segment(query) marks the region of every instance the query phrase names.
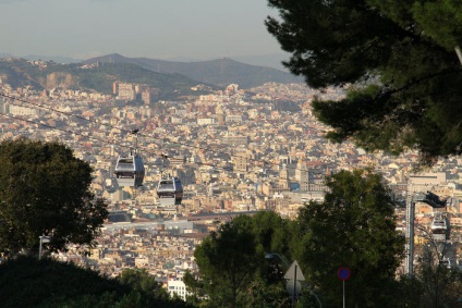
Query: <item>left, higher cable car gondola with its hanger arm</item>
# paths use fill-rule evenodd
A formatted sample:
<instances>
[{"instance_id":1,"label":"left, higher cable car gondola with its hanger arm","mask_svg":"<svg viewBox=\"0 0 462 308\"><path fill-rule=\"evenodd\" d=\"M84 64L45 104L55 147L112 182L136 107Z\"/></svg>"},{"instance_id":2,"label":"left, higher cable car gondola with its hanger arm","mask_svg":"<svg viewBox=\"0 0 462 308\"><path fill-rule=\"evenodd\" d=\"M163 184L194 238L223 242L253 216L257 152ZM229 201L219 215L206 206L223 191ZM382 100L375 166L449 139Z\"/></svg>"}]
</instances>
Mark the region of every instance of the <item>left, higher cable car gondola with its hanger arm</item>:
<instances>
[{"instance_id":1,"label":"left, higher cable car gondola with its hanger arm","mask_svg":"<svg viewBox=\"0 0 462 308\"><path fill-rule=\"evenodd\" d=\"M143 186L145 169L142 157L136 152L137 133L138 130L132 131L132 134L136 136L134 151L126 157L119 156L117 160L114 174L119 186Z\"/></svg>"}]
</instances>

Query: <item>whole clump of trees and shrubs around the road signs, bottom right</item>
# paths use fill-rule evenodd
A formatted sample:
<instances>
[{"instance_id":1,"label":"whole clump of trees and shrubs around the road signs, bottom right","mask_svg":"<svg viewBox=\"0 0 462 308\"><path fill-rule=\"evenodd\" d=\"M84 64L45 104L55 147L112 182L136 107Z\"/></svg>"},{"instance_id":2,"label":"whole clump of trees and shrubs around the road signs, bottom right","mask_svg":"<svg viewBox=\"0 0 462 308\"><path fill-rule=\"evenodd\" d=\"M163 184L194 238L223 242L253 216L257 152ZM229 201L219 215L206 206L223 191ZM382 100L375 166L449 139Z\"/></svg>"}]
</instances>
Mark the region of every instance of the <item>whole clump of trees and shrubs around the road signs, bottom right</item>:
<instances>
[{"instance_id":1,"label":"whole clump of trees and shrubs around the road signs, bottom right","mask_svg":"<svg viewBox=\"0 0 462 308\"><path fill-rule=\"evenodd\" d=\"M396 230L394 208L380 175L341 171L328 177L327 186L325 201L305 205L295 221L262 211L238 217L205 238L195 252L199 273L187 272L183 280L193 293L190 303L290 307L283 276L296 259L306 279L296 307L319 307L317 298L323 307L341 307L341 267L351 270L346 307L437 307L430 306L435 292L439 304L457 307L460 272L441 269L439 291L428 271L415 279L397 276L404 236Z\"/></svg>"}]
</instances>

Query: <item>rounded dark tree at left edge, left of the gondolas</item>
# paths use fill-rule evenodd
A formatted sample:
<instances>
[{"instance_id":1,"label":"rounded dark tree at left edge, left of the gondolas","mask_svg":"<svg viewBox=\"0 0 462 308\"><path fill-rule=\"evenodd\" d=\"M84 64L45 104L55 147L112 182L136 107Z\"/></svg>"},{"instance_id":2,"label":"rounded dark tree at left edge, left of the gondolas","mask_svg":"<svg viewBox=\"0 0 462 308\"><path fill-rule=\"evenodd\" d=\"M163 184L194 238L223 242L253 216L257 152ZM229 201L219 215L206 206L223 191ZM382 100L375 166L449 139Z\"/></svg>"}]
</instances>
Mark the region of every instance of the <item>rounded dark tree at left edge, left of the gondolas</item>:
<instances>
[{"instance_id":1,"label":"rounded dark tree at left edge, left of the gondolas","mask_svg":"<svg viewBox=\"0 0 462 308\"><path fill-rule=\"evenodd\" d=\"M89 190L90 165L57 143L26 138L0 143L0 252L36 251L40 235L50 250L93 245L108 215Z\"/></svg>"}]
</instances>

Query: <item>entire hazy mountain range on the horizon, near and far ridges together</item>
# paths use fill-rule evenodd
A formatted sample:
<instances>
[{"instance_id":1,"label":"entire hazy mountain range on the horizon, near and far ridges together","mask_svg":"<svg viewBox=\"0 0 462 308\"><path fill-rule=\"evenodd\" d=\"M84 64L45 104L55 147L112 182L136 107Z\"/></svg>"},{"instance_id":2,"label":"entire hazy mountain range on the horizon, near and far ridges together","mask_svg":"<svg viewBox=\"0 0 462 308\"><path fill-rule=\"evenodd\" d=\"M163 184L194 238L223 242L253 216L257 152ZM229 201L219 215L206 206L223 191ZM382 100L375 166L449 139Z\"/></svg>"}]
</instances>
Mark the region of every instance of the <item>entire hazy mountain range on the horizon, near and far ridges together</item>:
<instances>
[{"instance_id":1,"label":"entire hazy mountain range on the horizon, near and far ridges together","mask_svg":"<svg viewBox=\"0 0 462 308\"><path fill-rule=\"evenodd\" d=\"M203 89L219 89L230 84L239 84L245 89L268 82L303 83L301 77L287 72L244 64L228 58L177 62L126 58L114 53L69 64L49 61L46 58L41 60L48 61L47 65L40 66L24 59L0 53L0 78L13 87L32 85L36 89L61 87L93 89L100 93L111 93L112 83L115 81L139 83L158 88L161 94L159 98L193 94L192 87L198 84L205 85Z\"/></svg>"}]
</instances>

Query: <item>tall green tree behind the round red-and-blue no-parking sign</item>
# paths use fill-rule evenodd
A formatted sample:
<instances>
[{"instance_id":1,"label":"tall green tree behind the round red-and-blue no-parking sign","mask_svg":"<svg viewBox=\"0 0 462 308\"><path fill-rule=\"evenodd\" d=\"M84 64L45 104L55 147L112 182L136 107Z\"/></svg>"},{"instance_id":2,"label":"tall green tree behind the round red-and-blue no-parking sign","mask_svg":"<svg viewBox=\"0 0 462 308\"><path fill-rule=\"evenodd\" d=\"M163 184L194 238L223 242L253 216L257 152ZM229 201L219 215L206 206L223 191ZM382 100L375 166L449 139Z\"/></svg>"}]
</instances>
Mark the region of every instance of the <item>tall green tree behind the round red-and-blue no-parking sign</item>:
<instances>
[{"instance_id":1,"label":"tall green tree behind the round red-and-blue no-parking sign","mask_svg":"<svg viewBox=\"0 0 462 308\"><path fill-rule=\"evenodd\" d=\"M342 284L336 276L349 267L346 306L394 307L386 289L394 283L404 250L396 231L394 210L380 175L340 171L326 180L324 202L309 201L300 211L297 260L305 278L327 306L341 305ZM387 300L386 300L387 299Z\"/></svg>"}]
</instances>

